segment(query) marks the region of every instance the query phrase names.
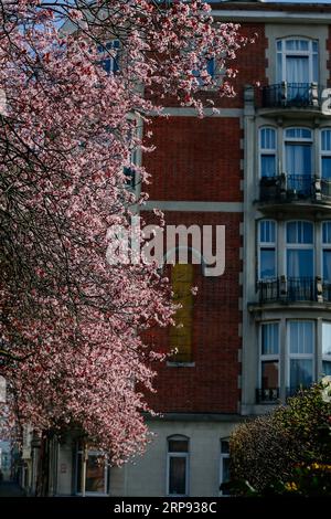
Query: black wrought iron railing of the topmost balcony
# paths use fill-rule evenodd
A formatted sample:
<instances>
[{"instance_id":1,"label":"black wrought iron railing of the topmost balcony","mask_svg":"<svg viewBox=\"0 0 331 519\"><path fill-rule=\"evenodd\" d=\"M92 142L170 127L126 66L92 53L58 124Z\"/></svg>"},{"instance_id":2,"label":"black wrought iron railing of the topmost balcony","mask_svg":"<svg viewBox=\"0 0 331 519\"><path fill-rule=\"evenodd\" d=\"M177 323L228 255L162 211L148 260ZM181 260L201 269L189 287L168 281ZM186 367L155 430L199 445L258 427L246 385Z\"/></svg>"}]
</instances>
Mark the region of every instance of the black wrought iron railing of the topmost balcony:
<instances>
[{"instance_id":1,"label":"black wrought iron railing of the topmost balcony","mask_svg":"<svg viewBox=\"0 0 331 519\"><path fill-rule=\"evenodd\" d=\"M264 107L316 107L320 106L321 88L317 83L288 83L263 87Z\"/></svg>"}]
</instances>

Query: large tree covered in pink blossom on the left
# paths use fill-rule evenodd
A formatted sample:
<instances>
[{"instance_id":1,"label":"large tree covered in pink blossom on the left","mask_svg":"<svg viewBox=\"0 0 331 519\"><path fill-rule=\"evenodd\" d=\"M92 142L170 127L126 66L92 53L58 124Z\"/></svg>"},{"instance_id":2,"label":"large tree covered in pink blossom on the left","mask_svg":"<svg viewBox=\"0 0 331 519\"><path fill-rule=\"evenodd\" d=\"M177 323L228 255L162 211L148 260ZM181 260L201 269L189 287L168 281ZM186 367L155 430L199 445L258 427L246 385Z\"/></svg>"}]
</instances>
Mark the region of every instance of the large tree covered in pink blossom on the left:
<instances>
[{"instance_id":1,"label":"large tree covered in pink blossom on the left","mask_svg":"<svg viewBox=\"0 0 331 519\"><path fill-rule=\"evenodd\" d=\"M173 311L156 266L106 261L107 230L127 226L137 202L125 167L137 148L150 150L137 130L167 96L202 114L201 89L233 94L229 64L246 41L200 1L0 4L8 403L38 431L82 428L119 463L147 441L150 410L137 385L152 390L151 362L161 359L141 333L168 326ZM215 56L221 85L206 70Z\"/></svg>"}]
</instances>

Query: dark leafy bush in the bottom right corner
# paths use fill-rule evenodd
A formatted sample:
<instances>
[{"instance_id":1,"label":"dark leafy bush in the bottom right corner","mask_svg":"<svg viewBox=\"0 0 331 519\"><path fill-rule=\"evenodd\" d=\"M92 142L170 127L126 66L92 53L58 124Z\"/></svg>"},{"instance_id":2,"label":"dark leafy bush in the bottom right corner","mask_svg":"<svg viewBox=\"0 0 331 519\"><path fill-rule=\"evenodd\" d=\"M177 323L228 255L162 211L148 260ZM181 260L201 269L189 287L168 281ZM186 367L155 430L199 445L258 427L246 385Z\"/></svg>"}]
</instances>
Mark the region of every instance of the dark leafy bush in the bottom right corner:
<instances>
[{"instance_id":1,"label":"dark leafy bush in the bottom right corner","mask_svg":"<svg viewBox=\"0 0 331 519\"><path fill-rule=\"evenodd\" d=\"M236 494L331 495L331 377L231 437Z\"/></svg>"}]
</instances>

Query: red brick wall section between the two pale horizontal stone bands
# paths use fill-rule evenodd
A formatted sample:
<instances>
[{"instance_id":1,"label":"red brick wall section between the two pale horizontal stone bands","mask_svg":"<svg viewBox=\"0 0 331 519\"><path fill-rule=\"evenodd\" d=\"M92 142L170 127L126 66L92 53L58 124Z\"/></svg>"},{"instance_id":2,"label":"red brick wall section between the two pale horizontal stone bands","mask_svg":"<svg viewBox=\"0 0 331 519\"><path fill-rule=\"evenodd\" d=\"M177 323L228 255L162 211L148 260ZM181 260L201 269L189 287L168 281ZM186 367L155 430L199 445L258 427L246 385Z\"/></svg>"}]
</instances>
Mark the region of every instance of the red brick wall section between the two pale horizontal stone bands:
<instances>
[{"instance_id":1,"label":"red brick wall section between the two pale horizontal stone bands","mask_svg":"<svg viewBox=\"0 0 331 519\"><path fill-rule=\"evenodd\" d=\"M151 200L242 201L238 118L157 118L152 131L157 149L143 157Z\"/></svg>"}]
</instances>

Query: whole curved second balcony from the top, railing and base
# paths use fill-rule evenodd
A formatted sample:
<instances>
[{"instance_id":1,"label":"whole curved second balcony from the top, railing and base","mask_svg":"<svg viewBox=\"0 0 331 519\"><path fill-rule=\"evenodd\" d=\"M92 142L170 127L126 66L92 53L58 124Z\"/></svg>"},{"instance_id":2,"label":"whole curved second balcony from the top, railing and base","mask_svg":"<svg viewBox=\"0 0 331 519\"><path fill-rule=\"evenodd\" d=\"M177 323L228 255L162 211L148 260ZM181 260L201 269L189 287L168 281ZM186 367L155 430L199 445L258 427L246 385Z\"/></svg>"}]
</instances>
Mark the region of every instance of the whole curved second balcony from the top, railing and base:
<instances>
[{"instance_id":1,"label":"whole curved second balcony from the top, railing and base","mask_svg":"<svg viewBox=\"0 0 331 519\"><path fill-rule=\"evenodd\" d=\"M288 204L296 211L296 205L308 209L331 209L331 179L321 179L311 174L287 174L263 177L259 182L259 203L264 209L275 209ZM278 208L279 209L279 208Z\"/></svg>"}]
</instances>

